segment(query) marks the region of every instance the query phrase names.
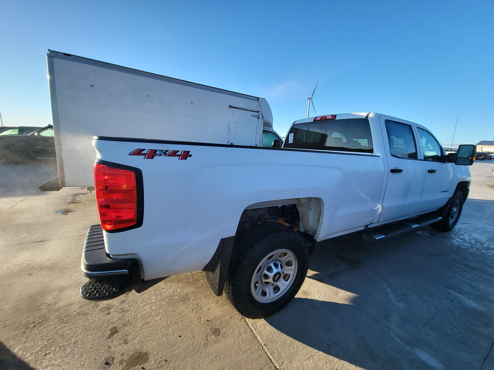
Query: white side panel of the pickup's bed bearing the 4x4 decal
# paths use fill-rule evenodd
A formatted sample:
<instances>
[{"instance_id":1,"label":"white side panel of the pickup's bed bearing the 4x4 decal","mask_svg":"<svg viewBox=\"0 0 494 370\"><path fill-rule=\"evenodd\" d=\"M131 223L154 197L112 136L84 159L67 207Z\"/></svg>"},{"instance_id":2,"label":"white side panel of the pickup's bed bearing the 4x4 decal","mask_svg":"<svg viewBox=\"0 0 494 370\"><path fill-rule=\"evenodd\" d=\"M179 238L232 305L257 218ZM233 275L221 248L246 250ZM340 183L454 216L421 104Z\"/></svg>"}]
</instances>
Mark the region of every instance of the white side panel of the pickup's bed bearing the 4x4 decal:
<instances>
[{"instance_id":1,"label":"white side panel of the pickup's bed bearing the 4x4 decal","mask_svg":"<svg viewBox=\"0 0 494 370\"><path fill-rule=\"evenodd\" d=\"M112 257L140 260L146 280L202 269L256 205L321 199L320 217L334 222L320 222L316 240L363 228L377 221L386 181L383 158L367 153L101 136L92 144L98 161L142 172L142 226L105 233L105 244Z\"/></svg>"}]
</instances>

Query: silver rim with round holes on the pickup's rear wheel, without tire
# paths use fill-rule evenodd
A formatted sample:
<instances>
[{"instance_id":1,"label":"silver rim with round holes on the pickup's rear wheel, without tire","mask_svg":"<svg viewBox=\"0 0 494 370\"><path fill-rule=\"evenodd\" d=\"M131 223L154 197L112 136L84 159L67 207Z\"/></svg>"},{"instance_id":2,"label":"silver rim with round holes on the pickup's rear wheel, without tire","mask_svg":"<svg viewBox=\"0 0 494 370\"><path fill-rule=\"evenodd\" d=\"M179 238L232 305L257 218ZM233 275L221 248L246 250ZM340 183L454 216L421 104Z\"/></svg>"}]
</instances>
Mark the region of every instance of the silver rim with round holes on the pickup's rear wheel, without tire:
<instances>
[{"instance_id":1,"label":"silver rim with round holes on the pickup's rear wheel, without tire","mask_svg":"<svg viewBox=\"0 0 494 370\"><path fill-rule=\"evenodd\" d=\"M261 303L270 303L283 296L297 274L297 258L288 249L278 249L262 259L250 282L250 292Z\"/></svg>"}]
</instances>

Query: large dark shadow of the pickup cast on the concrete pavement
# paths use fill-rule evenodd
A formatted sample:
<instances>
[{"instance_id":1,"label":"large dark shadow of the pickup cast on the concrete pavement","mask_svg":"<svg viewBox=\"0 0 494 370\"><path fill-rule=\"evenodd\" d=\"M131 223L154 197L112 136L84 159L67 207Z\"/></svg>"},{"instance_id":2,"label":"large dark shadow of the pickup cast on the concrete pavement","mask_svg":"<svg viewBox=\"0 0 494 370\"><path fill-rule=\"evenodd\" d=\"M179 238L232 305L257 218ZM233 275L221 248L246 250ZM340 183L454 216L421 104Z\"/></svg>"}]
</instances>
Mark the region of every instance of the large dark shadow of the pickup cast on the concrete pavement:
<instances>
[{"instance_id":1,"label":"large dark shadow of the pickup cast on the concrete pavement","mask_svg":"<svg viewBox=\"0 0 494 370\"><path fill-rule=\"evenodd\" d=\"M266 322L364 369L480 369L493 341L493 276L430 253L448 244L427 229L379 244L358 233L318 243L301 290ZM296 341L283 351L322 363Z\"/></svg>"}]
</instances>

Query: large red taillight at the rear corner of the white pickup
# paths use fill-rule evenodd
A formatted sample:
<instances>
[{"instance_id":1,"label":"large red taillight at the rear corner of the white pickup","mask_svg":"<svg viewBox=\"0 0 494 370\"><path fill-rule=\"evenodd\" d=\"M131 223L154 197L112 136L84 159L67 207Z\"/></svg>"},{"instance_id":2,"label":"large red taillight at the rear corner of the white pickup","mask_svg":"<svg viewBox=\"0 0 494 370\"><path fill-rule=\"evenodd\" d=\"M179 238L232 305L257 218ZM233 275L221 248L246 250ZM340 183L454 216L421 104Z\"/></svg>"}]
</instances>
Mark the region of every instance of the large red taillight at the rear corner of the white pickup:
<instances>
[{"instance_id":1,"label":"large red taillight at the rear corner of the white pickup","mask_svg":"<svg viewBox=\"0 0 494 370\"><path fill-rule=\"evenodd\" d=\"M94 191L104 230L137 222L137 187L133 171L94 163Z\"/></svg>"}]
</instances>

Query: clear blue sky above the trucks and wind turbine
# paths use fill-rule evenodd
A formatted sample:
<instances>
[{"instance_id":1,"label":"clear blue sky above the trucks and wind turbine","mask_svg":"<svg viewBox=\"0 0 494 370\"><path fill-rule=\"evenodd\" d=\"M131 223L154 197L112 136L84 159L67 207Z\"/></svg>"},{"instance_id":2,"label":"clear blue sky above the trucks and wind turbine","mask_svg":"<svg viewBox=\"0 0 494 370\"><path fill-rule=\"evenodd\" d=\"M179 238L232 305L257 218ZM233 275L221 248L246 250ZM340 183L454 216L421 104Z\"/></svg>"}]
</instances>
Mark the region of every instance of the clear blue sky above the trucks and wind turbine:
<instances>
[{"instance_id":1,"label":"clear blue sky above the trucks and wind turbine","mask_svg":"<svg viewBox=\"0 0 494 370\"><path fill-rule=\"evenodd\" d=\"M284 135L316 112L378 111L445 146L494 140L493 1L4 1L4 125L51 122L48 48L261 96ZM311 115L315 115L311 109Z\"/></svg>"}]
</instances>

